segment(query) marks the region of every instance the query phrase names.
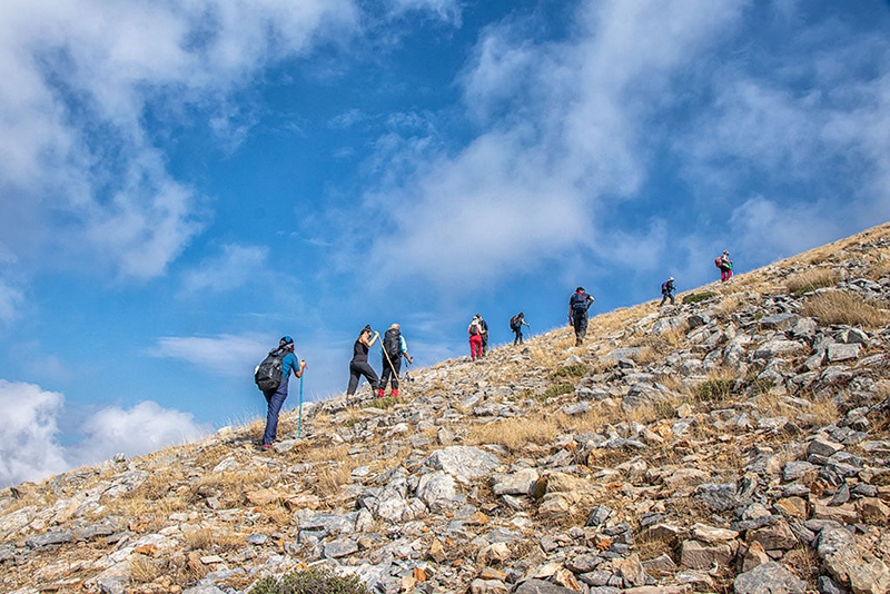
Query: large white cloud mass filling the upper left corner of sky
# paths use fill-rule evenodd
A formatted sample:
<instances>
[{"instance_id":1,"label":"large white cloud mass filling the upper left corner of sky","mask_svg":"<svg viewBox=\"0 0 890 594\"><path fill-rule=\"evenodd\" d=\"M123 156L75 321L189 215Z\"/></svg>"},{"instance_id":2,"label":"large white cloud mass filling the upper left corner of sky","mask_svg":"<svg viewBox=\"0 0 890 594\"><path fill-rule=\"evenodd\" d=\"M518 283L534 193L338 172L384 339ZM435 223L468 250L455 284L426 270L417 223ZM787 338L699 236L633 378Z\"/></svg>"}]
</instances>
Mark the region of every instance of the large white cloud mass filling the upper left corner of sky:
<instances>
[{"instance_id":1,"label":"large white cloud mass filling the upper left corner of sky","mask_svg":"<svg viewBox=\"0 0 890 594\"><path fill-rule=\"evenodd\" d=\"M154 145L147 110L167 126L197 106L237 143L251 120L233 111L233 90L357 27L349 0L3 8L0 235L21 258L98 259L136 278L162 274L206 219Z\"/></svg>"}]
</instances>

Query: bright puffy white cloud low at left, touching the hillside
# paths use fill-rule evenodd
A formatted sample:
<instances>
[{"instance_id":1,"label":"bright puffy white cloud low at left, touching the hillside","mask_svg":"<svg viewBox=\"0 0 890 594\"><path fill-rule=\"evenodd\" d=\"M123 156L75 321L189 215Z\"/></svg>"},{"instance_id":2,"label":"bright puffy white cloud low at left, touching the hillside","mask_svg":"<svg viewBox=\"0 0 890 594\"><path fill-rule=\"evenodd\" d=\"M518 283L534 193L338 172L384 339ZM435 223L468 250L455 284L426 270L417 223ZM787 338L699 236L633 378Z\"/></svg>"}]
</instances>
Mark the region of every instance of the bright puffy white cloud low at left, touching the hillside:
<instances>
[{"instance_id":1,"label":"bright puffy white cloud low at left, touching the hillside","mask_svg":"<svg viewBox=\"0 0 890 594\"><path fill-rule=\"evenodd\" d=\"M115 406L98 410L80 427L80 442L62 445L58 419L63 415L61 394L0 379L0 486L41 481L119 452L127 456L147 454L198 439L210 430L195 423L189 413L142 402L130 409Z\"/></svg>"}]
</instances>

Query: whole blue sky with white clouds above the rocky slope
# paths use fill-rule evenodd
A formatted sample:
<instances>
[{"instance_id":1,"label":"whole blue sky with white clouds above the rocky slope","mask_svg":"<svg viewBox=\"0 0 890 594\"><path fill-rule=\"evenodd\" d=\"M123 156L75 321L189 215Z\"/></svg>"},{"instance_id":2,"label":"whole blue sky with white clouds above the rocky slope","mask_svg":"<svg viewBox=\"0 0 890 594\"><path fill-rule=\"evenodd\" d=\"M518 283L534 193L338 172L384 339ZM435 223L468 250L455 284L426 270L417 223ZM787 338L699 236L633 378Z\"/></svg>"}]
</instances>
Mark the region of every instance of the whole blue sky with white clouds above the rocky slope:
<instances>
[{"instance_id":1,"label":"whole blue sky with white clouds above the rocky slope","mask_svg":"<svg viewBox=\"0 0 890 594\"><path fill-rule=\"evenodd\" d=\"M428 365L890 214L887 2L3 12L0 484L257 417L284 334L318 399L365 324Z\"/></svg>"}]
</instances>

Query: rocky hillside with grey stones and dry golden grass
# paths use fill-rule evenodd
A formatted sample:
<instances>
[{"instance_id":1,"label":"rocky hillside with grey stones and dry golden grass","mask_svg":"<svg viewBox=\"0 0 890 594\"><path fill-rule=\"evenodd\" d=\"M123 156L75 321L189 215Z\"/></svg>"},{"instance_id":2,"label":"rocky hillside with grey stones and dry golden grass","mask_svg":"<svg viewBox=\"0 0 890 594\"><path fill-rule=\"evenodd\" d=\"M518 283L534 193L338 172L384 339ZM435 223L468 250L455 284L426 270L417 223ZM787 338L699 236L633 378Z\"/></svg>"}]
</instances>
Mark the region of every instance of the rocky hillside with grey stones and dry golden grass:
<instances>
[{"instance_id":1,"label":"rocky hillside with grey stones and dry golden grass","mask_svg":"<svg viewBox=\"0 0 890 594\"><path fill-rule=\"evenodd\" d=\"M680 297L7 489L0 590L888 592L890 225Z\"/></svg>"}]
</instances>

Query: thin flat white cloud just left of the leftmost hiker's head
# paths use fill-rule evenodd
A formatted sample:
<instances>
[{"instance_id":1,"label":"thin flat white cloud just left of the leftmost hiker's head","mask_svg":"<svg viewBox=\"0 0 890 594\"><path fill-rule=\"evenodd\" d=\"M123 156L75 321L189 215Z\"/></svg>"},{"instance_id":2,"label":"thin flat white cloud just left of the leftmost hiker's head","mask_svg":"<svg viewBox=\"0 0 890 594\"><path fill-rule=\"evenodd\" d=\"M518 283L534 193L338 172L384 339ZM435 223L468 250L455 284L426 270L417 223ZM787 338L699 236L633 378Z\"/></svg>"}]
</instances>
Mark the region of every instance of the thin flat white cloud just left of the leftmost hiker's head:
<instances>
[{"instance_id":1,"label":"thin flat white cloud just left of the leftmost hiker's head","mask_svg":"<svg viewBox=\"0 0 890 594\"><path fill-rule=\"evenodd\" d=\"M256 334L215 337L158 338L157 346L149 350L155 357L170 357L186 360L204 369L228 376L248 377L269 350L278 344L279 337Z\"/></svg>"}]
</instances>

